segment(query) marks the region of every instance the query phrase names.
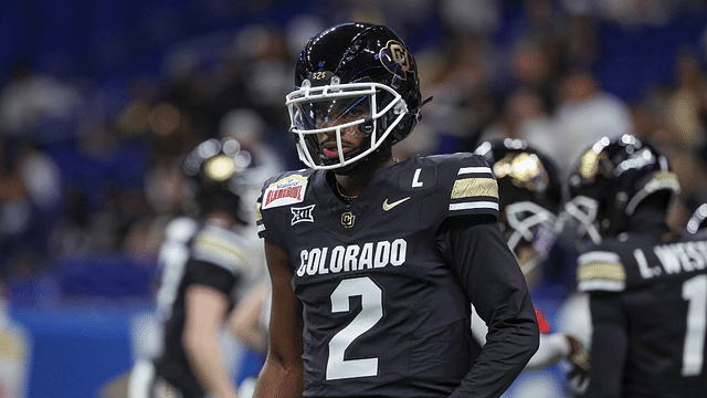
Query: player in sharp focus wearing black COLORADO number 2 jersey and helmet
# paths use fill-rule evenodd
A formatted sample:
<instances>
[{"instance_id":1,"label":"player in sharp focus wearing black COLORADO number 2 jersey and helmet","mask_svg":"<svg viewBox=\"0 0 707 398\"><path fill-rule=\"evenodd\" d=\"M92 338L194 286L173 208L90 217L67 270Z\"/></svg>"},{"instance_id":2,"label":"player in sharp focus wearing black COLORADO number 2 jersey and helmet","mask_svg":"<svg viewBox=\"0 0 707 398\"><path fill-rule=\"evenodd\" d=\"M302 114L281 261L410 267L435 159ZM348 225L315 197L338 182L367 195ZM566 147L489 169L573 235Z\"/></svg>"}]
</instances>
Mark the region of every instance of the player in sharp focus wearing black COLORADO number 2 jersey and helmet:
<instances>
[{"instance_id":1,"label":"player in sharp focus wearing black COLORADO number 2 jersey and helmet","mask_svg":"<svg viewBox=\"0 0 707 398\"><path fill-rule=\"evenodd\" d=\"M488 164L393 158L424 102L387 27L317 34L295 86L308 168L267 180L257 203L273 289L255 397L499 397L539 333ZM475 363L471 304L489 328Z\"/></svg>"}]
</instances>

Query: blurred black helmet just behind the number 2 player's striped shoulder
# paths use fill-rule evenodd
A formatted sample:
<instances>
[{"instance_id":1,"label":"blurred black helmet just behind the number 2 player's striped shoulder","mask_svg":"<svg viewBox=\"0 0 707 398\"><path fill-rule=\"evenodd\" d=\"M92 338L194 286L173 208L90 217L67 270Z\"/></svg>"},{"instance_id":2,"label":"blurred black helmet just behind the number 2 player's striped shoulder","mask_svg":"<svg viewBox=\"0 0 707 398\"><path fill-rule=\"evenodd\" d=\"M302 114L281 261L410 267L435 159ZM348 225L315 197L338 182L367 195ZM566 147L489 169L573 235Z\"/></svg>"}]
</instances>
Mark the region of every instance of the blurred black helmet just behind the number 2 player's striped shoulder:
<instances>
[{"instance_id":1,"label":"blurred black helmet just behind the number 2 player's striped shoulder","mask_svg":"<svg viewBox=\"0 0 707 398\"><path fill-rule=\"evenodd\" d=\"M525 140L506 138L482 143L484 156L498 182L499 227L511 251L531 247L535 261L524 273L545 260L555 242L562 182L555 163Z\"/></svg>"}]
</instances>

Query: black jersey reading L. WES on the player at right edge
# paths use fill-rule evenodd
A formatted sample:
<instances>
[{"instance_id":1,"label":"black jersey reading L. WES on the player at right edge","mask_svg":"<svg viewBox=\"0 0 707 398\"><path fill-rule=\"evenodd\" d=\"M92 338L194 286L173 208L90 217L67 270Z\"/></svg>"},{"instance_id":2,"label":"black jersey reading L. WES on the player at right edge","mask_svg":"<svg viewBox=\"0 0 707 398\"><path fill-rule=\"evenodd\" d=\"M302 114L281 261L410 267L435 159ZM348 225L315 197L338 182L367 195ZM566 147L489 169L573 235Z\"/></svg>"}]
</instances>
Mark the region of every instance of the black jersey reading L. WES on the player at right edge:
<instances>
[{"instance_id":1,"label":"black jersey reading L. WES on the player at right edge","mask_svg":"<svg viewBox=\"0 0 707 398\"><path fill-rule=\"evenodd\" d=\"M707 237L671 233L661 216L579 256L593 324L588 397L707 396Z\"/></svg>"}]
</instances>

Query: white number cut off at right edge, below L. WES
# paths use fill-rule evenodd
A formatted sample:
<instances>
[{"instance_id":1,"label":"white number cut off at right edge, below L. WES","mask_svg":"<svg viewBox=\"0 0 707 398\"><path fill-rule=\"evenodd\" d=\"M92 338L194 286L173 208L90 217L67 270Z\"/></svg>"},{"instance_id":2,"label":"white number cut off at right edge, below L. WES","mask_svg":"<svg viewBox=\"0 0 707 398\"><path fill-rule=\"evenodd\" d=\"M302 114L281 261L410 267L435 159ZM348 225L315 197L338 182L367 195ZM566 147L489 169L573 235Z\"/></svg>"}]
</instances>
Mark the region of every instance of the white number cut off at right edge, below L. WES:
<instances>
[{"instance_id":1,"label":"white number cut off at right edge, below L. WES","mask_svg":"<svg viewBox=\"0 0 707 398\"><path fill-rule=\"evenodd\" d=\"M683 376L703 373L705 328L707 327L707 275L698 275L683 283L683 298L687 301L687 328L683 348Z\"/></svg>"}]
</instances>

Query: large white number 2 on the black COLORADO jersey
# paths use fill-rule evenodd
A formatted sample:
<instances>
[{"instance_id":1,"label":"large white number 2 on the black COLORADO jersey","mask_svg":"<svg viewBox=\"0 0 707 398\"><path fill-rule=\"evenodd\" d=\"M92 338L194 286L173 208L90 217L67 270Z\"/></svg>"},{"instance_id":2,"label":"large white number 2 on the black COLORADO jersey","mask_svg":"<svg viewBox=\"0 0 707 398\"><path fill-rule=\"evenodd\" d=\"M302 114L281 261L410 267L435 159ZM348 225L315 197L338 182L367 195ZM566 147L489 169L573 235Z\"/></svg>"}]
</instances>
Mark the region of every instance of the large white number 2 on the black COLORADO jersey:
<instances>
[{"instance_id":1,"label":"large white number 2 on the black COLORADO jersey","mask_svg":"<svg viewBox=\"0 0 707 398\"><path fill-rule=\"evenodd\" d=\"M342 280L331 293L331 312L349 312L349 297L361 297L361 312L329 342L327 380L378 375L378 358L345 359L354 341L383 317L383 293L368 276Z\"/></svg>"}]
</instances>

